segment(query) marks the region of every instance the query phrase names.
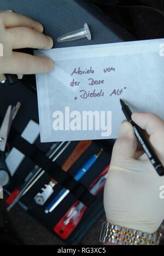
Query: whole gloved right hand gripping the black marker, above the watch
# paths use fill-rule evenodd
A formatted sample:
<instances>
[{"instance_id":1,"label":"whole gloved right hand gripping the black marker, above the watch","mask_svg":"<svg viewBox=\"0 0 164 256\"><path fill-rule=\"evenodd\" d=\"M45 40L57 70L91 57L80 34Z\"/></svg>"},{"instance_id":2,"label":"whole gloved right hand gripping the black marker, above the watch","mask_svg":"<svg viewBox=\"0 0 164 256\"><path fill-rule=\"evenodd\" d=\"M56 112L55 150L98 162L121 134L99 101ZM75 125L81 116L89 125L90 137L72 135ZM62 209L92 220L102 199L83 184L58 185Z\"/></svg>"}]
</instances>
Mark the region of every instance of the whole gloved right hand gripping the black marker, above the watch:
<instances>
[{"instance_id":1,"label":"whole gloved right hand gripping the black marker, above the watch","mask_svg":"<svg viewBox=\"0 0 164 256\"><path fill-rule=\"evenodd\" d=\"M140 113L134 113L132 119L147 131L164 165L164 121L156 115ZM160 199L164 177L156 173L138 146L132 125L124 121L113 149L104 207L108 222L153 234L164 218L164 199Z\"/></svg>"}]
</instances>

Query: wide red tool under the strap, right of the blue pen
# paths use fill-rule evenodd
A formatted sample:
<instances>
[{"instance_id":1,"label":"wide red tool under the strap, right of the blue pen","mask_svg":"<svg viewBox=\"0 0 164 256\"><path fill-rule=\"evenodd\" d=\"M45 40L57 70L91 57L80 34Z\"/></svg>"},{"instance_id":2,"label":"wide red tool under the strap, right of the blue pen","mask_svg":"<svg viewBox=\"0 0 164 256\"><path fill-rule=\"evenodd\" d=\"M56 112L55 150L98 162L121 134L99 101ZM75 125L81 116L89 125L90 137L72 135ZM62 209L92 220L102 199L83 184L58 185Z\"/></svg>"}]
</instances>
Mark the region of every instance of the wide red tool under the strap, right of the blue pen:
<instances>
[{"instance_id":1,"label":"wide red tool under the strap, right of the blue pen","mask_svg":"<svg viewBox=\"0 0 164 256\"><path fill-rule=\"evenodd\" d=\"M101 174L95 179L95 181L90 185L89 191L92 195L97 195L106 183L107 173L109 170L109 165L102 171ZM87 206L84 203L77 201L74 205L69 208L65 216L63 216L60 221L54 226L54 231L63 240L66 240L77 227L80 220L83 218Z\"/></svg>"}]
</instances>

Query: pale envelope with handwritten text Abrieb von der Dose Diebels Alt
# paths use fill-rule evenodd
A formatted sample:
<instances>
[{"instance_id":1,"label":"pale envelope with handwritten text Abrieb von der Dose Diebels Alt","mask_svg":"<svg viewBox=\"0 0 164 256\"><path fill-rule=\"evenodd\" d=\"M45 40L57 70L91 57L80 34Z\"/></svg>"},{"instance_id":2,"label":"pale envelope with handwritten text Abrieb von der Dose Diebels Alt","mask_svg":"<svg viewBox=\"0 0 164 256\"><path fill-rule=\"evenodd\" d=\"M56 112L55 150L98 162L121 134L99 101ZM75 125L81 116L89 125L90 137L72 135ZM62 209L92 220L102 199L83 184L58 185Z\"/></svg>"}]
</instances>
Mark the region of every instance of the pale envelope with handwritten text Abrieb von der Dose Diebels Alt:
<instances>
[{"instance_id":1,"label":"pale envelope with handwritten text Abrieb von der Dose Diebels Alt","mask_svg":"<svg viewBox=\"0 0 164 256\"><path fill-rule=\"evenodd\" d=\"M55 62L37 75L42 142L108 139L133 112L164 119L164 39L36 51Z\"/></svg>"}]
</instances>

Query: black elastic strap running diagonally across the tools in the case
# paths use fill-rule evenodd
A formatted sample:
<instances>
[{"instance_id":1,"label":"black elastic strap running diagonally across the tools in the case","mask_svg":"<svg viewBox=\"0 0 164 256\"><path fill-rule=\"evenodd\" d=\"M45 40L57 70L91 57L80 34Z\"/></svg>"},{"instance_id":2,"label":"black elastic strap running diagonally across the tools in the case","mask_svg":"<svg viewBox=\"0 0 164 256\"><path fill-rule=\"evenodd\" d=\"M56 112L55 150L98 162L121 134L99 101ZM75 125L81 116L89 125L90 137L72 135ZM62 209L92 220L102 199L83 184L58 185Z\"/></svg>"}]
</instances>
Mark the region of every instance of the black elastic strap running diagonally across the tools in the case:
<instances>
[{"instance_id":1,"label":"black elastic strap running diagonally across the tools in the case","mask_svg":"<svg viewBox=\"0 0 164 256\"><path fill-rule=\"evenodd\" d=\"M20 136L16 136L12 144L22 154L26 155L27 158L30 158L35 164L45 170L59 184L62 184L63 187L69 189L75 199L79 199L86 206L90 206L90 204L95 201L95 196L93 196L81 183L75 181L71 174L63 171L56 162L52 162L47 158L34 144L28 143Z\"/></svg>"}]
</instances>

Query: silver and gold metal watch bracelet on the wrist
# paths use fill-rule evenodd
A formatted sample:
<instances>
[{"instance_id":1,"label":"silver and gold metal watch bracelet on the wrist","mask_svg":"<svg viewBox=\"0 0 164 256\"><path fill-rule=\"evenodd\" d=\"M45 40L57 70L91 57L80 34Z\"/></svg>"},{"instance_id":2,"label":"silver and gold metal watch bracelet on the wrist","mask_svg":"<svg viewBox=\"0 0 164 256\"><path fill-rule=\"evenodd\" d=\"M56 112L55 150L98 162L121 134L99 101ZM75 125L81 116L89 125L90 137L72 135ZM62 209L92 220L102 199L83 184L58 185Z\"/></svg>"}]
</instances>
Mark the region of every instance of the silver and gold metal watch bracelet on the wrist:
<instances>
[{"instance_id":1,"label":"silver and gold metal watch bracelet on the wrist","mask_svg":"<svg viewBox=\"0 0 164 256\"><path fill-rule=\"evenodd\" d=\"M116 245L159 245L161 236L160 232L148 234L104 222L102 224L99 242L110 242Z\"/></svg>"}]
</instances>

